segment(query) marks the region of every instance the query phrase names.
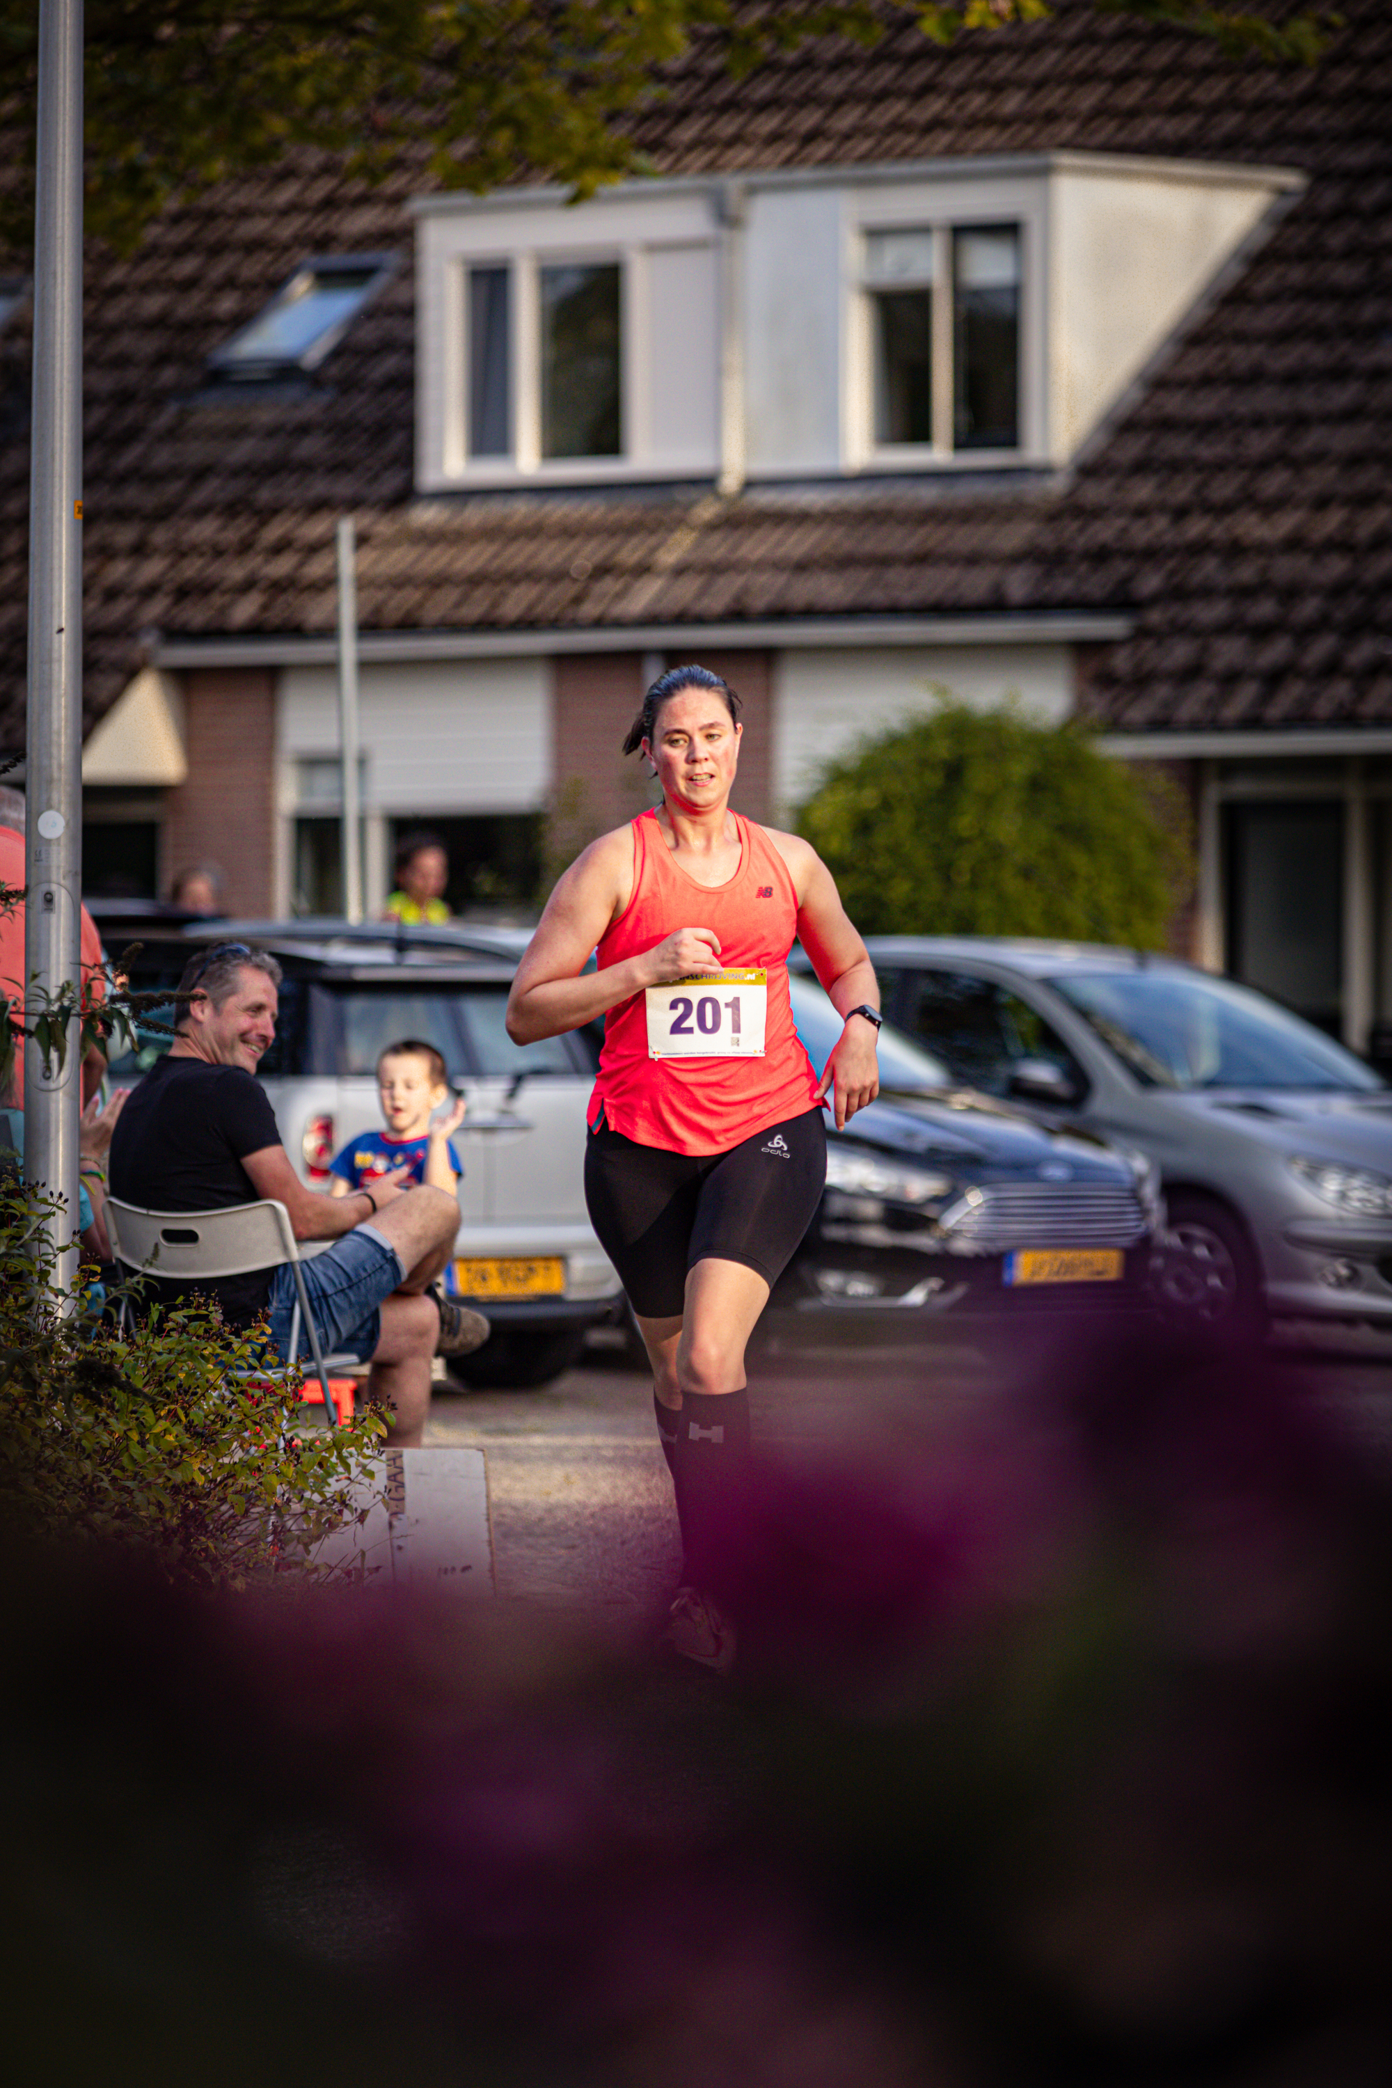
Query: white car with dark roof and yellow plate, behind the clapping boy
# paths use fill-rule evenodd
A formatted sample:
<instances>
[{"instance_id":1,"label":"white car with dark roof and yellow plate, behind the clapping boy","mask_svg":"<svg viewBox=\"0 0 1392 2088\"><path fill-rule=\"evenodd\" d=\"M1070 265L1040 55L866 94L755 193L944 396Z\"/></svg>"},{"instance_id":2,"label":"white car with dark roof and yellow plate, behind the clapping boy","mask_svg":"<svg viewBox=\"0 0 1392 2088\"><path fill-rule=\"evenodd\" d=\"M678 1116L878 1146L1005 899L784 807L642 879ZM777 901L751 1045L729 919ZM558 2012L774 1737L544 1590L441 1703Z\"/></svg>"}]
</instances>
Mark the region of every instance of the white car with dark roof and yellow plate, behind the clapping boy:
<instances>
[{"instance_id":1,"label":"white car with dark roof and yellow plate, behind the clapping boy","mask_svg":"<svg viewBox=\"0 0 1392 2088\"><path fill-rule=\"evenodd\" d=\"M622 1311L622 1290L584 1213L584 1105L597 1038L578 1031L513 1044L503 1027L515 946L499 931L346 927L332 921L198 921L98 908L106 948L140 935L136 990L179 979L190 942L246 942L284 971L280 1025L261 1063L286 1150L305 1182L351 1138L380 1130L376 1063L384 1044L434 1044L463 1094L455 1134L465 1173L453 1288L478 1303L493 1336L451 1368L470 1384L545 1384ZM169 1046L169 1009L152 1011L138 1052L113 1059L117 1086Z\"/></svg>"}]
</instances>

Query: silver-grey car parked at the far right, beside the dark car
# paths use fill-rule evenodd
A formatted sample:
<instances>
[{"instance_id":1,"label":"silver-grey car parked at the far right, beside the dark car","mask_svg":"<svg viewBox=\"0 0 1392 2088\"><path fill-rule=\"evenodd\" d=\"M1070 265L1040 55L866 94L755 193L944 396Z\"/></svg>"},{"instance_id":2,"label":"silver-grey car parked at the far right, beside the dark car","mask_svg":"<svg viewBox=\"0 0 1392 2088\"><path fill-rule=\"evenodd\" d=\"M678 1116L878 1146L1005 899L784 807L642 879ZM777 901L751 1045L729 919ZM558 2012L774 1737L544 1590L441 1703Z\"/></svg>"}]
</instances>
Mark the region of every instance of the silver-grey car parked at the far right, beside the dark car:
<instances>
[{"instance_id":1,"label":"silver-grey car parked at the far right, beside the dark car","mask_svg":"<svg viewBox=\"0 0 1392 2088\"><path fill-rule=\"evenodd\" d=\"M1321 1029L1175 958L874 938L885 1013L958 1079L1160 1167L1167 1303L1392 1336L1392 1090Z\"/></svg>"}]
</instances>

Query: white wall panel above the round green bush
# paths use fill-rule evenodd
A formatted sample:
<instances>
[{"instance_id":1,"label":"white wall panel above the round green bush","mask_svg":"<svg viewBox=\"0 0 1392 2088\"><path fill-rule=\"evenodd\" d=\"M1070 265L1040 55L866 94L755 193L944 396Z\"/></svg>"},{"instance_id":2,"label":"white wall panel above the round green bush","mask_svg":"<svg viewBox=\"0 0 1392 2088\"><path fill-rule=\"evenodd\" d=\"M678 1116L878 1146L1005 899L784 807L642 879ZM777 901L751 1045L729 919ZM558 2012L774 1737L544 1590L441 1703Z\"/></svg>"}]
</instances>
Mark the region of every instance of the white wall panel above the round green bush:
<instances>
[{"instance_id":1,"label":"white wall panel above the round green bush","mask_svg":"<svg viewBox=\"0 0 1392 2088\"><path fill-rule=\"evenodd\" d=\"M989 710L1018 695L1031 718L1073 710L1071 645L826 647L785 651L774 683L774 804L787 814L818 766L866 735L933 710L933 685Z\"/></svg>"}]
</instances>

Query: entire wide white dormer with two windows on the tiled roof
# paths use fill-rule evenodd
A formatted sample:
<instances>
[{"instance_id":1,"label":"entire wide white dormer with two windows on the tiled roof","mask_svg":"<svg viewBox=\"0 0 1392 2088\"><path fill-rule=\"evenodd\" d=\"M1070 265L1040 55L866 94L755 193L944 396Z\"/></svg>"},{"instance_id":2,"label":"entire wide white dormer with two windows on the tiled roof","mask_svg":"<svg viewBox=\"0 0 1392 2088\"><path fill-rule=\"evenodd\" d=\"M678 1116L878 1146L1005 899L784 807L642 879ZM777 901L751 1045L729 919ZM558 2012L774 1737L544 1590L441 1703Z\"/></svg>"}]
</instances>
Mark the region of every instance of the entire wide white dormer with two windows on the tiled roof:
<instances>
[{"instance_id":1,"label":"entire wide white dormer with two windows on the tiled roof","mask_svg":"<svg viewBox=\"0 0 1392 2088\"><path fill-rule=\"evenodd\" d=\"M1018 152L424 196L415 484L1058 468L1300 186Z\"/></svg>"}]
</instances>

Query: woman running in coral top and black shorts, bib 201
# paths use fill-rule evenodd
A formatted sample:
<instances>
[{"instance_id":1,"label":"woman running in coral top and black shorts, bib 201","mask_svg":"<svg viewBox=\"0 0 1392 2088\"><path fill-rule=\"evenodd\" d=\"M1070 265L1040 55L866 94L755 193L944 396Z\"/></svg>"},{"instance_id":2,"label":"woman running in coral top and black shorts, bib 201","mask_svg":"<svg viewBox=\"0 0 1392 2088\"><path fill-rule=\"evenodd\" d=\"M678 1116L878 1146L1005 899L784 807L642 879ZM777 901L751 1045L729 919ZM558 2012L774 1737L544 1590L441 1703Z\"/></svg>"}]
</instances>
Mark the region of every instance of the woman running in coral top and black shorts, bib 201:
<instances>
[{"instance_id":1,"label":"woman running in coral top and black shorts, bib 201","mask_svg":"<svg viewBox=\"0 0 1392 2088\"><path fill-rule=\"evenodd\" d=\"M822 1098L841 1128L879 1092L879 990L831 871L730 812L737 712L710 668L653 683L624 754L643 750L662 804L572 862L507 1002L518 1044L605 1017L584 1196L653 1366L685 1545L668 1639L714 1668L735 1658L712 1583L749 1453L745 1345L822 1194ZM793 1027L795 938L845 1017L820 1082Z\"/></svg>"}]
</instances>

